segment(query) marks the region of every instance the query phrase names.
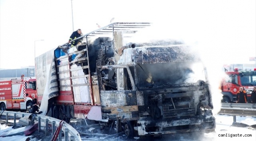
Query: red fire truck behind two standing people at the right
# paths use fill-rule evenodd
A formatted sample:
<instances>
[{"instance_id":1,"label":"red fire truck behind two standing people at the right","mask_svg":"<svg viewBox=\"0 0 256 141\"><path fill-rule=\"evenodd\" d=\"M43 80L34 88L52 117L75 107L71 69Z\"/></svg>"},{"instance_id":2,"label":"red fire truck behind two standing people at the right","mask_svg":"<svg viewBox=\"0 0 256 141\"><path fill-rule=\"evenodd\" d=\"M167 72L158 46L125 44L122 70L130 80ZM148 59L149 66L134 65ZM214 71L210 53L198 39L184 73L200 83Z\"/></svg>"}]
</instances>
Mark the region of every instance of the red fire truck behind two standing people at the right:
<instances>
[{"instance_id":1,"label":"red fire truck behind two standing people at the right","mask_svg":"<svg viewBox=\"0 0 256 141\"><path fill-rule=\"evenodd\" d=\"M226 77L221 80L220 85L223 94L222 102L235 102L239 87L243 87L247 92L247 100L250 103L253 87L256 87L256 69L254 71L238 71L237 68L234 71L227 71L225 69L225 73Z\"/></svg>"}]
</instances>

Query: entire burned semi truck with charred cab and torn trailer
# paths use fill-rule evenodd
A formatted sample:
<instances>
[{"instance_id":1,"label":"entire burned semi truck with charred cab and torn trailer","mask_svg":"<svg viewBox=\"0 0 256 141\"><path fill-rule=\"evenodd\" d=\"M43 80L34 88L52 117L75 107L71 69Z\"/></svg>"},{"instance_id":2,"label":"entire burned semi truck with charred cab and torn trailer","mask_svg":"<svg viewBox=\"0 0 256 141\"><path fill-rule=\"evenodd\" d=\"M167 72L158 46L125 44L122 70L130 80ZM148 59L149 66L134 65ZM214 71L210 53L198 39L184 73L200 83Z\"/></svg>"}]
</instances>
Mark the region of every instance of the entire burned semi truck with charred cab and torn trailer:
<instances>
[{"instance_id":1,"label":"entire burned semi truck with charred cab and torn trailer","mask_svg":"<svg viewBox=\"0 0 256 141\"><path fill-rule=\"evenodd\" d=\"M68 54L65 43L37 57L40 109L67 122L101 121L128 137L213 132L210 84L195 47L175 40L123 45L147 26L112 23L81 36Z\"/></svg>"}]
</instances>

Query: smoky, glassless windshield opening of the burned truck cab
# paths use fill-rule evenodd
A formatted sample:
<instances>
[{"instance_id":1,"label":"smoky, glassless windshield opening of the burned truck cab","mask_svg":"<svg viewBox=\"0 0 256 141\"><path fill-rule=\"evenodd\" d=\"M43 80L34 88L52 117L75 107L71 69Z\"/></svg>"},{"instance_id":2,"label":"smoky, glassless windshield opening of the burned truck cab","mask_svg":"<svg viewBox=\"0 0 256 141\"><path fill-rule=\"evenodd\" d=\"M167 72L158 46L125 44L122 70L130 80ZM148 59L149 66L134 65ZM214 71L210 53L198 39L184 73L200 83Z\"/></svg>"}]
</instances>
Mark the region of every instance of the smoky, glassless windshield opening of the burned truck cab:
<instances>
[{"instance_id":1,"label":"smoky, glassless windshield opening of the burned truck cab","mask_svg":"<svg viewBox=\"0 0 256 141\"><path fill-rule=\"evenodd\" d=\"M176 85L206 81L201 61L172 61L136 65L138 87Z\"/></svg>"}]
</instances>

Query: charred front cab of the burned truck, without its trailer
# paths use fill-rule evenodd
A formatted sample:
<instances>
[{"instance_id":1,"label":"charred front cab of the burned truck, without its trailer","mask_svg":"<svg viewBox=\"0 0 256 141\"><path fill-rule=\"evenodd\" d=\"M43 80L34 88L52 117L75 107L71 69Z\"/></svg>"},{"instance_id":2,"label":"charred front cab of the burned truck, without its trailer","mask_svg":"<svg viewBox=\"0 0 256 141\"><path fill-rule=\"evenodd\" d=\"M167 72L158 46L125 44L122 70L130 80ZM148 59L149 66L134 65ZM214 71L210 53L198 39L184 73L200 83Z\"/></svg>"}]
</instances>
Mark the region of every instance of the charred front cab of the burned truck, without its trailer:
<instances>
[{"instance_id":1,"label":"charred front cab of the burned truck, without its trailer","mask_svg":"<svg viewBox=\"0 0 256 141\"><path fill-rule=\"evenodd\" d=\"M117 90L101 91L102 118L120 119L127 136L213 132L210 84L196 49L149 45L128 45L117 65L105 67L116 69Z\"/></svg>"}]
</instances>

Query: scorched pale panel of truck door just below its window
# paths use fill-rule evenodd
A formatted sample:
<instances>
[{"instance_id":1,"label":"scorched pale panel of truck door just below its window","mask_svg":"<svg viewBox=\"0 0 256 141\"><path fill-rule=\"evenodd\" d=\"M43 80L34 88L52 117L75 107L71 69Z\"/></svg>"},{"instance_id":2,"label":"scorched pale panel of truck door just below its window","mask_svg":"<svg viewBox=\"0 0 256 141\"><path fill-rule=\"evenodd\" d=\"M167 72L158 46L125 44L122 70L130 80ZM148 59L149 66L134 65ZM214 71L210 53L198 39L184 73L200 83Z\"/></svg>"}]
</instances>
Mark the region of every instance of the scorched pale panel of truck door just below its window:
<instances>
[{"instance_id":1,"label":"scorched pale panel of truck door just below its window","mask_svg":"<svg viewBox=\"0 0 256 141\"><path fill-rule=\"evenodd\" d=\"M100 101L102 108L137 105L136 91L101 91Z\"/></svg>"}]
</instances>

